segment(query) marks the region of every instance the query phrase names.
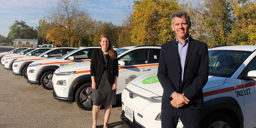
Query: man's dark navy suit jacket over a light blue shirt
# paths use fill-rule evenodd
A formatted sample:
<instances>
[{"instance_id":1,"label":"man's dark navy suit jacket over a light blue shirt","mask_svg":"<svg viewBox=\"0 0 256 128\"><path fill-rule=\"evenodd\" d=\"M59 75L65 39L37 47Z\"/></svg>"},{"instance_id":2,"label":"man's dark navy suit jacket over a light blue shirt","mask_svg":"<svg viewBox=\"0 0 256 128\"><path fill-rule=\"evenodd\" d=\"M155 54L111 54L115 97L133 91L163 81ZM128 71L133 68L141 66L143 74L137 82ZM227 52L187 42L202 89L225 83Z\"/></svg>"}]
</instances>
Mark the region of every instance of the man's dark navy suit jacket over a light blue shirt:
<instances>
[{"instance_id":1,"label":"man's dark navy suit jacket over a light blue shirt","mask_svg":"<svg viewBox=\"0 0 256 128\"><path fill-rule=\"evenodd\" d=\"M207 44L192 39L188 43L183 82L179 92L181 77L178 45L175 40L161 46L157 77L164 89L162 106L171 108L170 96L173 92L185 93L190 100L182 108L204 108L203 87L208 81L209 58Z\"/></svg>"}]
</instances>

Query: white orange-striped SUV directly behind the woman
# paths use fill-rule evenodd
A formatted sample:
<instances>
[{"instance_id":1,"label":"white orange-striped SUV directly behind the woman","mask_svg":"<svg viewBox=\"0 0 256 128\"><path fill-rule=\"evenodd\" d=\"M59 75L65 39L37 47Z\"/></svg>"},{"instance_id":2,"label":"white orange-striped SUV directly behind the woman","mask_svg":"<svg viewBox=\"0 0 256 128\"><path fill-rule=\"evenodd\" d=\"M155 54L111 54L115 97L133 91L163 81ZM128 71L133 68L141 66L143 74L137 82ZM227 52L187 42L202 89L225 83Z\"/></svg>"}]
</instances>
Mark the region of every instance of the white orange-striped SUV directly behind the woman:
<instances>
[{"instance_id":1,"label":"white orange-striped SUV directly behind the woman","mask_svg":"<svg viewBox=\"0 0 256 128\"><path fill-rule=\"evenodd\" d=\"M156 71L161 46L127 46L117 49L119 76L117 96L137 76ZM73 103L84 110L92 110L90 62L58 68L52 77L53 97L61 102ZM120 99L120 98L119 98Z\"/></svg>"}]
</instances>

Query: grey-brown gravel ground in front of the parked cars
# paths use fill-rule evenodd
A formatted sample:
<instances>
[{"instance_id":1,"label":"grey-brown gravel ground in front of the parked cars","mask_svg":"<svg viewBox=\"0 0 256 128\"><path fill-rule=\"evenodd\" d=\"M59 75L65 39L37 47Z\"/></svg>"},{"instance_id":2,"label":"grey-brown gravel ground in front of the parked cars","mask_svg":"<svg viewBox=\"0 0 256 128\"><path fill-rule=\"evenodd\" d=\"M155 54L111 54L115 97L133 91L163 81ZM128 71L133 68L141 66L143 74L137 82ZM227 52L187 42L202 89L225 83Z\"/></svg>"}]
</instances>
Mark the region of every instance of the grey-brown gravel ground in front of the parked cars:
<instances>
[{"instance_id":1,"label":"grey-brown gravel ground in front of the parked cars","mask_svg":"<svg viewBox=\"0 0 256 128\"><path fill-rule=\"evenodd\" d=\"M120 119L121 112L121 101L117 101L108 121L109 128L127 128ZM104 109L101 109L97 128L102 128L103 123ZM79 108L75 102L59 102L52 97L51 90L30 85L23 76L15 76L0 65L0 128L91 126L92 111Z\"/></svg>"}]
</instances>

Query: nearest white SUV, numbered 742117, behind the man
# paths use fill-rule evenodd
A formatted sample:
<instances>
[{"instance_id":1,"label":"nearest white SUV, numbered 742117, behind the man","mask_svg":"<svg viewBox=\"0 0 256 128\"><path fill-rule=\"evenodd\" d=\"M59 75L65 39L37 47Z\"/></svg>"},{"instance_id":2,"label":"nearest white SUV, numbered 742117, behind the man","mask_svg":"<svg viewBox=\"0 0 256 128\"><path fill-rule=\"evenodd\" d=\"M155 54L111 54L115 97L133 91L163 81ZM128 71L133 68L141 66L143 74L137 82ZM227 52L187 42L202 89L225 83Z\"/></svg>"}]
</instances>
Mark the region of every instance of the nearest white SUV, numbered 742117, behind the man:
<instances>
[{"instance_id":1,"label":"nearest white SUV, numbered 742117, behind the man","mask_svg":"<svg viewBox=\"0 0 256 128\"><path fill-rule=\"evenodd\" d=\"M202 128L255 128L256 46L221 46L208 51ZM140 76L123 90L121 119L128 127L161 127L163 88L156 74ZM180 121L178 127L183 127Z\"/></svg>"}]
</instances>

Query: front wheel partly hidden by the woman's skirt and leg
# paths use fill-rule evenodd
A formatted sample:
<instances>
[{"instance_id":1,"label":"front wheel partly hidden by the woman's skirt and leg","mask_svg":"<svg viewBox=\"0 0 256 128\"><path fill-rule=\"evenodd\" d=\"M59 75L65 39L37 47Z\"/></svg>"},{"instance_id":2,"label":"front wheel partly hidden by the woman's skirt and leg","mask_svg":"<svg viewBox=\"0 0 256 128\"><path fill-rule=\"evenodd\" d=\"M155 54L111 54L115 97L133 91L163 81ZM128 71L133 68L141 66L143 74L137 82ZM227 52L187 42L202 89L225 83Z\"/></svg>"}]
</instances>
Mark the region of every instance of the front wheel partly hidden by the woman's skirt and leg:
<instances>
[{"instance_id":1,"label":"front wheel partly hidden by the woman's skirt and leg","mask_svg":"<svg viewBox=\"0 0 256 128\"><path fill-rule=\"evenodd\" d=\"M92 83L83 84L76 92L76 104L78 107L90 111L92 110Z\"/></svg>"}]
</instances>

